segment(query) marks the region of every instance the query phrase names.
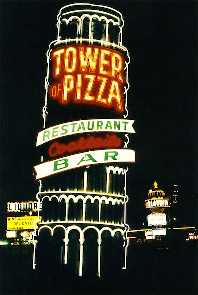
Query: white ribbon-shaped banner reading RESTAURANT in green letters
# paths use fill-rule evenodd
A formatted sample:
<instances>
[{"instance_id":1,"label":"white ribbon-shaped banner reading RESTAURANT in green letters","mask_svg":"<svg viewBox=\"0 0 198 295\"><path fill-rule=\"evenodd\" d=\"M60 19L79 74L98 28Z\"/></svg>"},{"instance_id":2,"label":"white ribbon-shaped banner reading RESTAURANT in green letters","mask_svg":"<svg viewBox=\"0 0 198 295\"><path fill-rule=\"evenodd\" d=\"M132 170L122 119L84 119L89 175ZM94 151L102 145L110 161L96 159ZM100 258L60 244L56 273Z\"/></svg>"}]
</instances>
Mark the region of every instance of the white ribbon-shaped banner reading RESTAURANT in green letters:
<instances>
[{"instance_id":1,"label":"white ribbon-shaped banner reading RESTAURANT in green letters","mask_svg":"<svg viewBox=\"0 0 198 295\"><path fill-rule=\"evenodd\" d=\"M90 132L122 132L135 133L132 127L134 120L127 119L95 119L62 123L40 131L36 146L67 135Z\"/></svg>"}]
</instances>

